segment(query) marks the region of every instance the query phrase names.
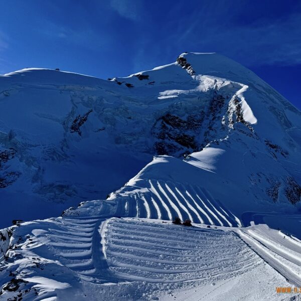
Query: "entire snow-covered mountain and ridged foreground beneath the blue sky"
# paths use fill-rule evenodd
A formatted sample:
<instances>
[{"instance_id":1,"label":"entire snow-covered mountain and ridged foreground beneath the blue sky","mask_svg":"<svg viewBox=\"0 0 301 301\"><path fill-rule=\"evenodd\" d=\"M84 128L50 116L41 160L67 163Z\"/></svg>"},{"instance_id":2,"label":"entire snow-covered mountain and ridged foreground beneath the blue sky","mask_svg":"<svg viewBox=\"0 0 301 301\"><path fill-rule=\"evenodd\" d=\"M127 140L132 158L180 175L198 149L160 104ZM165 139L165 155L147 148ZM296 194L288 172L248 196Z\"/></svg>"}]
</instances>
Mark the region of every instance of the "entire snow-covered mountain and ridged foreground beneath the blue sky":
<instances>
[{"instance_id":1,"label":"entire snow-covered mountain and ridged foreground beneath the blue sky","mask_svg":"<svg viewBox=\"0 0 301 301\"><path fill-rule=\"evenodd\" d=\"M301 113L250 70L184 53L0 91L1 300L301 299Z\"/></svg>"}]
</instances>

